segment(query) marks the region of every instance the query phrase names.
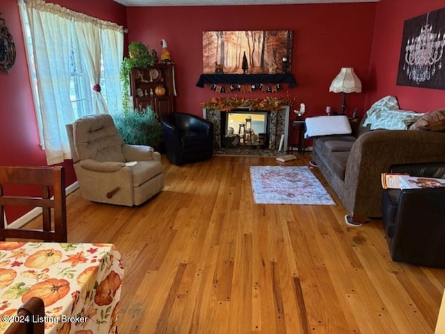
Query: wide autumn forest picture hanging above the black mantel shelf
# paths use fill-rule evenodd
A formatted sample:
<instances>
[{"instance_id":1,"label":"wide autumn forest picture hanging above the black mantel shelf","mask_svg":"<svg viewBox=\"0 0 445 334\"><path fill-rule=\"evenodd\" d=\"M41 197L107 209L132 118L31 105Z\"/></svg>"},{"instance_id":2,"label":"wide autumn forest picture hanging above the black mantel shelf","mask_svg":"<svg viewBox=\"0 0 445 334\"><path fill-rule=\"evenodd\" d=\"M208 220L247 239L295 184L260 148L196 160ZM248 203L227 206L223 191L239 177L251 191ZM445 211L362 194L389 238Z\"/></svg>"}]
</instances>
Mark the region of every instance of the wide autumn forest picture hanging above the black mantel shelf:
<instances>
[{"instance_id":1,"label":"wide autumn forest picture hanging above the black mantel shelf","mask_svg":"<svg viewBox=\"0 0 445 334\"><path fill-rule=\"evenodd\" d=\"M283 70L283 58L292 58L293 31L204 31L202 33L202 72L215 73L220 66L225 74L243 73L243 56L248 72L269 73L270 67ZM291 64L286 64L291 72Z\"/></svg>"}]
</instances>

